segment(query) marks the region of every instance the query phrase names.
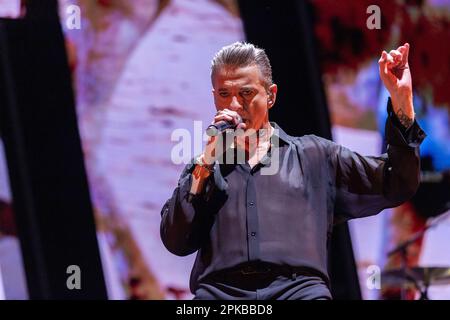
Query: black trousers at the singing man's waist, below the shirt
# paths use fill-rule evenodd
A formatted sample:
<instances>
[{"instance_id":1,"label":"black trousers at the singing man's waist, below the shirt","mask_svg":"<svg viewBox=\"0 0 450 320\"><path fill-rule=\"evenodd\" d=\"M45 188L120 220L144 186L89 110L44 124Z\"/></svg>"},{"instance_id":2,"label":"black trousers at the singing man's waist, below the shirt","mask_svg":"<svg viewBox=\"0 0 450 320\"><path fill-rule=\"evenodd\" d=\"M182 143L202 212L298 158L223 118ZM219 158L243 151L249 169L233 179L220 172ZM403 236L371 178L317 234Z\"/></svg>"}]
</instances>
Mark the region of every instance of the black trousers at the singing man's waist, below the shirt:
<instances>
[{"instance_id":1,"label":"black trousers at the singing man's waist, below the shirt","mask_svg":"<svg viewBox=\"0 0 450 320\"><path fill-rule=\"evenodd\" d=\"M200 281L194 300L331 300L319 276L233 274L215 275Z\"/></svg>"}]
</instances>

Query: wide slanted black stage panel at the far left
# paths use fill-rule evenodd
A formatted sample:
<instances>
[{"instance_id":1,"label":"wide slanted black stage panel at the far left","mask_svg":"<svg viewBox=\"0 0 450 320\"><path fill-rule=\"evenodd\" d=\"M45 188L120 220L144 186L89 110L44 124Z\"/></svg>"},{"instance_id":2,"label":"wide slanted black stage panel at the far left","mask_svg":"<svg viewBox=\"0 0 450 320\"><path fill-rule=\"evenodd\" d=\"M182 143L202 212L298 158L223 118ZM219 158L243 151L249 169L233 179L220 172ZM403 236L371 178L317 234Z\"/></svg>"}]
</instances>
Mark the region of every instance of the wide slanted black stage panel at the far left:
<instances>
[{"instance_id":1,"label":"wide slanted black stage panel at the far left","mask_svg":"<svg viewBox=\"0 0 450 320\"><path fill-rule=\"evenodd\" d=\"M0 132L29 298L106 299L58 4L26 3L0 19Z\"/></svg>"}]
</instances>

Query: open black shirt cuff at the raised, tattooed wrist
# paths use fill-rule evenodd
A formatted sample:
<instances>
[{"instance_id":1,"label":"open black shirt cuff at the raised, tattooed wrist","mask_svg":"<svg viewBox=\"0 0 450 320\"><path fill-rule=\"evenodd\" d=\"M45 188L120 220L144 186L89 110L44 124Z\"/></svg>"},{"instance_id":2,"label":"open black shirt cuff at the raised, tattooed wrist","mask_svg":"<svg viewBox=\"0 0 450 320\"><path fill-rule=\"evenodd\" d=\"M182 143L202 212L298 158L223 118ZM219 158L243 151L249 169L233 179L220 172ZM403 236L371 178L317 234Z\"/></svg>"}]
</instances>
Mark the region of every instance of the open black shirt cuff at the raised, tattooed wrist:
<instances>
[{"instance_id":1,"label":"open black shirt cuff at the raised, tattooed wrist","mask_svg":"<svg viewBox=\"0 0 450 320\"><path fill-rule=\"evenodd\" d=\"M409 128L405 128L394 113L391 98L387 104L388 118L386 120L386 139L389 145L393 146L409 146L416 148L420 146L427 136L426 133L414 118L413 124Z\"/></svg>"}]
</instances>

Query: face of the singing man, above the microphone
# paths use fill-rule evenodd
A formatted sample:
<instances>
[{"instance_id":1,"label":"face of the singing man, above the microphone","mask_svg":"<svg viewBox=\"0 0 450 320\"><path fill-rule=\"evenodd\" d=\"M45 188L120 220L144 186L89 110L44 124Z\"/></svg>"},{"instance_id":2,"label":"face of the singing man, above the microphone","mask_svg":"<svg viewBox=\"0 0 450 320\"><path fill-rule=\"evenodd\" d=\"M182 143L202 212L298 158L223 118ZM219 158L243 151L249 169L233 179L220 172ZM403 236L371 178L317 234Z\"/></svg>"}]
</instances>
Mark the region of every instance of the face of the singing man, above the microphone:
<instances>
[{"instance_id":1,"label":"face of the singing man, above the microphone","mask_svg":"<svg viewBox=\"0 0 450 320\"><path fill-rule=\"evenodd\" d=\"M243 68L223 67L213 77L214 103L218 111L236 111L246 129L259 130L269 123L269 109L276 99L277 86L264 86L256 65Z\"/></svg>"}]
</instances>

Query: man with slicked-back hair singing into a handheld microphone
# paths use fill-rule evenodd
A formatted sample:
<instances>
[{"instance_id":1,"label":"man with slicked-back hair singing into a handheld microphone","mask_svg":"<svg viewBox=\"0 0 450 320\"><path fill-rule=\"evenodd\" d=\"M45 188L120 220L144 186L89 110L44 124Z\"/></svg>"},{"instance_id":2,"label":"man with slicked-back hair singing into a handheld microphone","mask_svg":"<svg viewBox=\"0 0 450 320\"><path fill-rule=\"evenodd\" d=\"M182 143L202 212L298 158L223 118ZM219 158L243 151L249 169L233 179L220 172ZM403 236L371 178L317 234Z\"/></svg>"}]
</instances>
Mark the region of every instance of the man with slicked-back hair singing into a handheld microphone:
<instances>
[{"instance_id":1,"label":"man with slicked-back hair singing into a handheld microphone","mask_svg":"<svg viewBox=\"0 0 450 320\"><path fill-rule=\"evenodd\" d=\"M264 50L238 42L215 55L213 124L244 134L221 148L222 135L211 137L161 211L167 249L179 256L197 251L190 279L195 299L332 298L333 225L398 206L419 185L425 133L414 119L408 52L405 44L379 60L390 93L388 149L379 157L314 135L292 137L269 122L277 85ZM244 161L235 161L239 152ZM277 170L264 174L274 161Z\"/></svg>"}]
</instances>

